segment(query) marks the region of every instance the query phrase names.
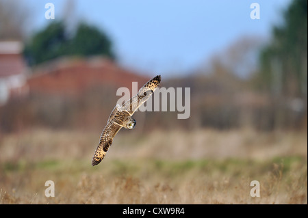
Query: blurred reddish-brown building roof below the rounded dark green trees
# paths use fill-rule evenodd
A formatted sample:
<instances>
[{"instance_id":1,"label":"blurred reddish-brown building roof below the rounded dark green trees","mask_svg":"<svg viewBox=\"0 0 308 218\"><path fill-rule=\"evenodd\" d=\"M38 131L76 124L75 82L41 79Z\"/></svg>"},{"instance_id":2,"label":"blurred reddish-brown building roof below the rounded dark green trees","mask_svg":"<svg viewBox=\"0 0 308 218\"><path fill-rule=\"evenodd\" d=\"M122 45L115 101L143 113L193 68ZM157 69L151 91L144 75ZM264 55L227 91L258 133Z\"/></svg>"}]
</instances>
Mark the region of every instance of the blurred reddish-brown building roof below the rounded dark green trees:
<instances>
[{"instance_id":1,"label":"blurred reddish-brown building roof below the rounded dark green trees","mask_svg":"<svg viewBox=\"0 0 308 218\"><path fill-rule=\"evenodd\" d=\"M41 64L29 77L29 92L34 94L56 94L78 96L90 87L116 85L131 90L131 82L143 85L149 77L121 68L104 57L62 57Z\"/></svg>"}]
</instances>

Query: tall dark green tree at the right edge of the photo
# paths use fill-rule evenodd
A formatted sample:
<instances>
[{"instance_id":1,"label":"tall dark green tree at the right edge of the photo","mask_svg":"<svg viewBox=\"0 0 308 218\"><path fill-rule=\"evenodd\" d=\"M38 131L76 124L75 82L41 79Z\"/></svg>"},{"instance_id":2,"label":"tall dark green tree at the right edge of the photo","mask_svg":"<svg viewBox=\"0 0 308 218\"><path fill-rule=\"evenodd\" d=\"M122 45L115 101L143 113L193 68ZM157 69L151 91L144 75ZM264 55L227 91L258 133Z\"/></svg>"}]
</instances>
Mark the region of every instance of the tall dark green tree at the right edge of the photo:
<instances>
[{"instance_id":1,"label":"tall dark green tree at the right edge of the photo","mask_svg":"<svg viewBox=\"0 0 308 218\"><path fill-rule=\"evenodd\" d=\"M294 0L285 10L260 64L262 88L276 96L307 98L307 0Z\"/></svg>"}]
</instances>

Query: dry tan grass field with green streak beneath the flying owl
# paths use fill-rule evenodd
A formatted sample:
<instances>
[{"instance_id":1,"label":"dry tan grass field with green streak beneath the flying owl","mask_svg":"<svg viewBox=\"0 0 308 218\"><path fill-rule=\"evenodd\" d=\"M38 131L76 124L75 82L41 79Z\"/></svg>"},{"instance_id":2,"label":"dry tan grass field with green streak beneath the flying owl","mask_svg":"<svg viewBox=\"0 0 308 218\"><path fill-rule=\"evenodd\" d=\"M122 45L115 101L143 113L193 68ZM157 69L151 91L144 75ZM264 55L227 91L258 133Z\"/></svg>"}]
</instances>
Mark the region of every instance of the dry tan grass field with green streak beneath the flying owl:
<instances>
[{"instance_id":1,"label":"dry tan grass field with green streak beneath the flying owl","mask_svg":"<svg viewBox=\"0 0 308 218\"><path fill-rule=\"evenodd\" d=\"M1 135L0 204L307 204L307 133L120 131L92 167L99 135Z\"/></svg>"}]
</instances>

